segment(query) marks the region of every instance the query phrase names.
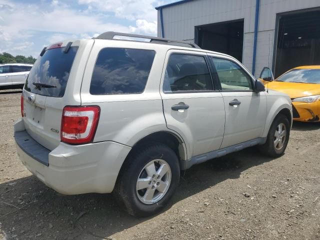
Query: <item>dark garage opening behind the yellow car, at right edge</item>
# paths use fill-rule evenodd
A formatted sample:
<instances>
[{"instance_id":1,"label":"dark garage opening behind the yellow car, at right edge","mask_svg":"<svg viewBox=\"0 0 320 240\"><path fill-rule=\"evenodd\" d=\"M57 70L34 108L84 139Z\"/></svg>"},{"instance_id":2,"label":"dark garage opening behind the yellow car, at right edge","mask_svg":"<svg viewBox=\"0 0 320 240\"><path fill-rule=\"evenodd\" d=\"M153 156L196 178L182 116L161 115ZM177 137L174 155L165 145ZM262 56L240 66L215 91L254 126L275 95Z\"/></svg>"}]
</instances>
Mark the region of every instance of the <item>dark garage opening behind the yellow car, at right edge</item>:
<instances>
[{"instance_id":1,"label":"dark garage opening behind the yellow car, at right edge","mask_svg":"<svg viewBox=\"0 0 320 240\"><path fill-rule=\"evenodd\" d=\"M275 76L292 67L320 64L320 10L278 17Z\"/></svg>"}]
</instances>

